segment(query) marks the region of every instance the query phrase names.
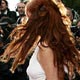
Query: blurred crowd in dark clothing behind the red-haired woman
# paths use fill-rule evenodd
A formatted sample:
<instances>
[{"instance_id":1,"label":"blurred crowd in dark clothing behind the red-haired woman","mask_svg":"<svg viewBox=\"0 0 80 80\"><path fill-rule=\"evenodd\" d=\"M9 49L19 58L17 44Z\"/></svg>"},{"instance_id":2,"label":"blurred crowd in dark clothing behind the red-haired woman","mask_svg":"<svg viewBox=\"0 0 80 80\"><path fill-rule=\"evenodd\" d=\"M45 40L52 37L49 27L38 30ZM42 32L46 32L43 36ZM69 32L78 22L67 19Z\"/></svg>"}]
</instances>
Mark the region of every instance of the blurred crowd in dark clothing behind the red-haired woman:
<instances>
[{"instance_id":1,"label":"blurred crowd in dark clothing behind the red-haired woman","mask_svg":"<svg viewBox=\"0 0 80 80\"><path fill-rule=\"evenodd\" d=\"M25 18L25 5L27 2L19 2L16 5L15 11L10 11L7 0L0 0L0 55L10 43L9 34ZM80 51L80 14L70 7L67 8L67 15L69 16L72 25L70 27L75 39L75 46ZM17 14L18 13L18 14ZM10 60L8 63L0 62L0 80L28 80L26 75L26 67L28 66L31 55L26 59L25 64L19 66L15 73L9 71L11 66ZM80 63L79 63L80 64ZM74 69L72 80L80 80L80 74ZM68 75L65 74L65 80L68 80Z\"/></svg>"}]
</instances>

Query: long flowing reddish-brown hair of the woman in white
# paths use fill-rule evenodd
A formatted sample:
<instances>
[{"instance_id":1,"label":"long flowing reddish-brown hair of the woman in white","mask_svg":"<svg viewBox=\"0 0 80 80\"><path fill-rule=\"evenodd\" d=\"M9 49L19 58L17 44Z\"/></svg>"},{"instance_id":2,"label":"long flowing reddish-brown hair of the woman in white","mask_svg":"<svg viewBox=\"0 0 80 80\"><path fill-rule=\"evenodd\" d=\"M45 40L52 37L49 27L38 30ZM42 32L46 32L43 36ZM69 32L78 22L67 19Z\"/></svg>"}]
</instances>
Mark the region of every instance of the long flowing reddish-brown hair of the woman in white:
<instances>
[{"instance_id":1,"label":"long flowing reddish-brown hair of the woman in white","mask_svg":"<svg viewBox=\"0 0 80 80\"><path fill-rule=\"evenodd\" d=\"M67 30L68 26L63 23L59 8L52 0L33 0L27 3L26 13L29 17L27 23L12 31L10 36L13 40L1 58L3 61L14 58L11 68L14 71L25 62L38 43L44 46L43 42L46 42L53 50L59 80L64 80L64 65L71 73L74 66L78 67L79 53L70 39L72 36Z\"/></svg>"}]
</instances>

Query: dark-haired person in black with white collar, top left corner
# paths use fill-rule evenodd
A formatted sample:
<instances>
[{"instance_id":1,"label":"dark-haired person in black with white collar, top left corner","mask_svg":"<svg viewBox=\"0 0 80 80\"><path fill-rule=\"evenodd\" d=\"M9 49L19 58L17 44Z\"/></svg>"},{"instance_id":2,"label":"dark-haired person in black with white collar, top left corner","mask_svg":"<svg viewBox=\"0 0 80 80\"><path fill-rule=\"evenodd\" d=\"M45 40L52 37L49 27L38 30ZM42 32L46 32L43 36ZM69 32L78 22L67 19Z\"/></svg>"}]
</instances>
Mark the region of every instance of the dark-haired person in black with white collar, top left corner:
<instances>
[{"instance_id":1,"label":"dark-haired person in black with white collar, top left corner","mask_svg":"<svg viewBox=\"0 0 80 80\"><path fill-rule=\"evenodd\" d=\"M4 17L9 17L10 20L12 21L12 23L15 23L16 19L17 19L16 12L15 11L10 11L10 9L8 8L7 0L2 0L1 1L1 14L0 14L0 18L4 18Z\"/></svg>"}]
</instances>

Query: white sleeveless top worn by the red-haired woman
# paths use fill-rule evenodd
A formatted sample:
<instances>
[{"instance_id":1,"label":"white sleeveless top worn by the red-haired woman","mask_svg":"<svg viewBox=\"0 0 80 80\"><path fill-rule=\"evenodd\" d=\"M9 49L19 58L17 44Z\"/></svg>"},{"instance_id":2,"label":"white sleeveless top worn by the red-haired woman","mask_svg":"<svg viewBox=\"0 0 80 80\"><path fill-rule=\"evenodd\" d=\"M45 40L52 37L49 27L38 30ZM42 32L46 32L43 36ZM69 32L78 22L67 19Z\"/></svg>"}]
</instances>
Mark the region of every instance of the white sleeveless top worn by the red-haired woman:
<instances>
[{"instance_id":1,"label":"white sleeveless top worn by the red-haired woman","mask_svg":"<svg viewBox=\"0 0 80 80\"><path fill-rule=\"evenodd\" d=\"M38 51L39 47L35 49L27 68L29 80L46 80L45 72L37 59Z\"/></svg>"}]
</instances>

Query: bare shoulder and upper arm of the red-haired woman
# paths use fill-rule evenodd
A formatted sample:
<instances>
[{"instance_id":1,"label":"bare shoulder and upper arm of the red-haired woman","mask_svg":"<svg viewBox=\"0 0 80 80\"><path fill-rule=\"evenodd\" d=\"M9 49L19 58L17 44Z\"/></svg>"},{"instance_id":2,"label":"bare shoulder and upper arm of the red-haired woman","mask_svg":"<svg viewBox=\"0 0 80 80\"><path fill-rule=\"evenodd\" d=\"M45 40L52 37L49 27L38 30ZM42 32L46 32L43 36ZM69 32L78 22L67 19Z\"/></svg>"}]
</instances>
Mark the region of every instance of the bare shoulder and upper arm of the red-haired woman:
<instances>
[{"instance_id":1,"label":"bare shoulder and upper arm of the red-haired woman","mask_svg":"<svg viewBox=\"0 0 80 80\"><path fill-rule=\"evenodd\" d=\"M54 56L51 48L49 47L45 48L42 45L40 45L37 56L38 61L40 62L42 68L44 69L46 79L58 80L57 67L53 65Z\"/></svg>"}]
</instances>

